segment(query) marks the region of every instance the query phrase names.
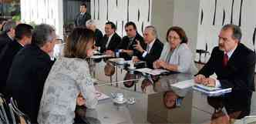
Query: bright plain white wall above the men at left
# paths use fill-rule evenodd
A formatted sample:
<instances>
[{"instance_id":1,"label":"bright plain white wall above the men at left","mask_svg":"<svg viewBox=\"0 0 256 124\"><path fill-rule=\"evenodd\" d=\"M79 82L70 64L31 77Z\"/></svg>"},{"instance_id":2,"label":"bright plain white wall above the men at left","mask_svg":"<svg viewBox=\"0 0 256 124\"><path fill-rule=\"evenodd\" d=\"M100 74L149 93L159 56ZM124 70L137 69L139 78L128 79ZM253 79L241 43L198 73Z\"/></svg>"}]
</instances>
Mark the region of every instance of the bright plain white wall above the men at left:
<instances>
[{"instance_id":1,"label":"bright plain white wall above the men at left","mask_svg":"<svg viewBox=\"0 0 256 124\"><path fill-rule=\"evenodd\" d=\"M63 38L62 0L21 0L22 22L46 23L56 28L56 34Z\"/></svg>"}]
</instances>

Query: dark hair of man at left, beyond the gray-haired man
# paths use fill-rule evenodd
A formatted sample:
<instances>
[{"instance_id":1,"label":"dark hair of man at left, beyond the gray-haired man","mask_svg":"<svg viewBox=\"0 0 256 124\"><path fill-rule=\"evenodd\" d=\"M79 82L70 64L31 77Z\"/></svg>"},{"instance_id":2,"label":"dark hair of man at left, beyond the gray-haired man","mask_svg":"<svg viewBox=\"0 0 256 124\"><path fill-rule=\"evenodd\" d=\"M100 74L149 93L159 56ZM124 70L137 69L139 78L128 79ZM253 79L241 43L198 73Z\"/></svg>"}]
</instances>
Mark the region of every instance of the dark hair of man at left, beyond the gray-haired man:
<instances>
[{"instance_id":1,"label":"dark hair of man at left, beyond the gray-haired man","mask_svg":"<svg viewBox=\"0 0 256 124\"><path fill-rule=\"evenodd\" d=\"M15 28L15 39L21 40L24 36L32 37L32 29L33 27L31 25L17 25Z\"/></svg>"}]
</instances>

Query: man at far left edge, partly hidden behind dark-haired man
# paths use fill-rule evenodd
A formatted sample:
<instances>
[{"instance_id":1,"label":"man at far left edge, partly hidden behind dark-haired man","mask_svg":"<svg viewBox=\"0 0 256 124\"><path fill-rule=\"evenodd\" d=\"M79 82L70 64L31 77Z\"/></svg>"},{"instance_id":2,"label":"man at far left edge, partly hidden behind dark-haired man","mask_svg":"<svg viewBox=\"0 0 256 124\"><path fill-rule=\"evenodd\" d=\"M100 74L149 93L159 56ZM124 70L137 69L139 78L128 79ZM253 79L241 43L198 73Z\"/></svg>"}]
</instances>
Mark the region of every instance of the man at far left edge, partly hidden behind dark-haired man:
<instances>
[{"instance_id":1,"label":"man at far left edge, partly hidden behind dark-haired man","mask_svg":"<svg viewBox=\"0 0 256 124\"><path fill-rule=\"evenodd\" d=\"M0 53L8 42L12 42L15 37L16 22L8 21L3 27L3 33L0 35Z\"/></svg>"}]
</instances>

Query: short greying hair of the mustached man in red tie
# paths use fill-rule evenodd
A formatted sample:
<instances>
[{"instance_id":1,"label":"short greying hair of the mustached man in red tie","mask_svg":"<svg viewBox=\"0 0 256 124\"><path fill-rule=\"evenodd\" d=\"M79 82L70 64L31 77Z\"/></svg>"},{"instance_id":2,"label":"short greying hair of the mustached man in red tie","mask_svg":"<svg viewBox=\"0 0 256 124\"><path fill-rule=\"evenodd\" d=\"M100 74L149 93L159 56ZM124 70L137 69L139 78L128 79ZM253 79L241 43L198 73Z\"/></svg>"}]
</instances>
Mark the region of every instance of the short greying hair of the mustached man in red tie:
<instances>
[{"instance_id":1,"label":"short greying hair of the mustached man in red tie","mask_svg":"<svg viewBox=\"0 0 256 124\"><path fill-rule=\"evenodd\" d=\"M241 28L237 25L227 24L227 25L224 25L224 27L222 27L221 30L227 30L228 28L231 28L233 31L233 35L232 35L233 39L237 39L238 42L240 42L242 38Z\"/></svg>"}]
</instances>

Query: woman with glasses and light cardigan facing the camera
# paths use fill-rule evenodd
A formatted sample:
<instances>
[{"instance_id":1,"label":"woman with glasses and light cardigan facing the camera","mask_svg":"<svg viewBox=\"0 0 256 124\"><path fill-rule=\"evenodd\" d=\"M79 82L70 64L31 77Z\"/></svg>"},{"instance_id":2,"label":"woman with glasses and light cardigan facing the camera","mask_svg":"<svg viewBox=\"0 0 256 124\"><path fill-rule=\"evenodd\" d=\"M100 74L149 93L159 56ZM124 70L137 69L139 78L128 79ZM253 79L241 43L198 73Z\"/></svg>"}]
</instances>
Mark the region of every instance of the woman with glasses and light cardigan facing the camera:
<instances>
[{"instance_id":1,"label":"woman with glasses and light cardigan facing the camera","mask_svg":"<svg viewBox=\"0 0 256 124\"><path fill-rule=\"evenodd\" d=\"M187 46L187 35L180 27L167 31L167 43L163 46L160 59L153 62L155 69L163 68L173 72L197 73L192 53Z\"/></svg>"}]
</instances>

